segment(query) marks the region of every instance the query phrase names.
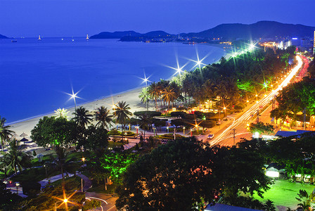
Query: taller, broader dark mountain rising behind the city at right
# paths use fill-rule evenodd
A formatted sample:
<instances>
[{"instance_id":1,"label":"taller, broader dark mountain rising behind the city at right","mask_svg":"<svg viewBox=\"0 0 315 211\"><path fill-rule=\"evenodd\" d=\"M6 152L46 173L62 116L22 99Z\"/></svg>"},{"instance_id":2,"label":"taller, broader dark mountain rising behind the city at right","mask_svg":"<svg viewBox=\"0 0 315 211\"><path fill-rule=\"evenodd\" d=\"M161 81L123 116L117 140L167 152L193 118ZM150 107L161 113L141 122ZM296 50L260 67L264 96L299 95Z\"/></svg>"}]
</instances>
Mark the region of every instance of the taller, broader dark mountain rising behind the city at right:
<instances>
[{"instance_id":1,"label":"taller, broader dark mountain rising behind the city at right","mask_svg":"<svg viewBox=\"0 0 315 211\"><path fill-rule=\"evenodd\" d=\"M250 25L232 23L221 24L210 30L197 33L183 33L182 37L202 37L224 39L258 39L274 37L312 37L315 27L278 23L276 21L259 21Z\"/></svg>"}]
</instances>

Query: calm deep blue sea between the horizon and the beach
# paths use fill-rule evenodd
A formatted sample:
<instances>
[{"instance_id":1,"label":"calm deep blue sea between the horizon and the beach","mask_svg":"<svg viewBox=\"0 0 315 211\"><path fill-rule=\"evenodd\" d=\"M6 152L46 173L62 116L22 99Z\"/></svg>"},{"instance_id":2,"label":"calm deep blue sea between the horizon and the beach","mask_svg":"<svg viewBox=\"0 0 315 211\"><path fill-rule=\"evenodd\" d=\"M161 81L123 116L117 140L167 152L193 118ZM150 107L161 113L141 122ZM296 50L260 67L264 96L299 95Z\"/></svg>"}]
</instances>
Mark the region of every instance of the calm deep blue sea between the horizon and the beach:
<instances>
[{"instance_id":1,"label":"calm deep blue sea between the horizon and the beach","mask_svg":"<svg viewBox=\"0 0 315 211\"><path fill-rule=\"evenodd\" d=\"M74 41L72 41L74 39ZM121 42L117 39L35 38L0 40L0 115L8 122L25 120L77 104L143 86L143 72L151 81L172 77L169 67L204 58L209 64L224 50L203 44Z\"/></svg>"}]
</instances>

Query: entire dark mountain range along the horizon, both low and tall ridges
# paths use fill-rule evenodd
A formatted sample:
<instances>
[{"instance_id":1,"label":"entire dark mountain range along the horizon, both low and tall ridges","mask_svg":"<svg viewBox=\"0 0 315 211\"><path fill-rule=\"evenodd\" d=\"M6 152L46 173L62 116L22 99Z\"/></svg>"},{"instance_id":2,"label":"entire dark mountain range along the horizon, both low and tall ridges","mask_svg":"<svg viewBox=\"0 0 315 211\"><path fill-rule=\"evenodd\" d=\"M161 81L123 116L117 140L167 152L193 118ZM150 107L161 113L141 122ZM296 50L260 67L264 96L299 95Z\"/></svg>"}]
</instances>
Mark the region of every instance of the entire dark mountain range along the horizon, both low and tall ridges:
<instances>
[{"instance_id":1,"label":"entire dark mountain range along the horizon, both low and tall ridges","mask_svg":"<svg viewBox=\"0 0 315 211\"><path fill-rule=\"evenodd\" d=\"M293 25L278 23L276 21L259 21L252 24L229 23L221 24L203 32L181 33L181 37L198 38L199 41L207 41L213 38L226 40L235 39L259 39L275 37L312 37L315 27L306 25ZM121 39L122 41L140 41L146 39L176 39L176 34L168 34L164 31L153 31L141 34L134 31L125 32L101 32L93 35L91 39Z\"/></svg>"}]
</instances>

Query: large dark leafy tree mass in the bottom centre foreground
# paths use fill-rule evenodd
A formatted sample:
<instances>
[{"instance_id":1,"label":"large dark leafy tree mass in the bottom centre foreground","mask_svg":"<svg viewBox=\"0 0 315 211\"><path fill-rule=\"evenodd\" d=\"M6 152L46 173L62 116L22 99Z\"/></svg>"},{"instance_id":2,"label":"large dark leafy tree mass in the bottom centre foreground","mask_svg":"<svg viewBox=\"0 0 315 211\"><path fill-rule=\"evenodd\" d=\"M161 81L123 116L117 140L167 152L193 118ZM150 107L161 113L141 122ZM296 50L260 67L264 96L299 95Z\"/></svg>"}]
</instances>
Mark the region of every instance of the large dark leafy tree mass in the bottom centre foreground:
<instances>
[{"instance_id":1,"label":"large dark leafy tree mass in the bottom centre foreground","mask_svg":"<svg viewBox=\"0 0 315 211\"><path fill-rule=\"evenodd\" d=\"M129 166L116 205L125 210L200 210L221 193L262 193L270 184L263 161L256 152L210 148L194 138L169 141Z\"/></svg>"}]
</instances>

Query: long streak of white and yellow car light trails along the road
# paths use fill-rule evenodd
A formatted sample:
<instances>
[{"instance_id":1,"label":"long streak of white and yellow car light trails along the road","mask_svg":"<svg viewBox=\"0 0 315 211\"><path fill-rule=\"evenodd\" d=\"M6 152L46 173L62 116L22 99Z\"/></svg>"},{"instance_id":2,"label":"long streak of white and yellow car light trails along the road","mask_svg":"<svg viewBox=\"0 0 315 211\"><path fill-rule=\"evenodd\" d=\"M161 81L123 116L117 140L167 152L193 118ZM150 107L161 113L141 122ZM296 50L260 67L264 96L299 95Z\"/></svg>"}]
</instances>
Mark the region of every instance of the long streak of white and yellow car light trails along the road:
<instances>
[{"instance_id":1,"label":"long streak of white and yellow car light trails along the road","mask_svg":"<svg viewBox=\"0 0 315 211\"><path fill-rule=\"evenodd\" d=\"M283 89L283 87L287 86L290 83L290 80L293 79L293 77L297 74L297 72L300 70L300 68L302 68L303 65L302 58L300 56L296 56L296 58L297 65L295 66L295 68L293 68L293 70L291 70L290 74L288 74L288 76L285 79L283 79L283 82L276 89L274 89L269 94L264 96L264 98L260 99L258 103L255 103L255 105L249 108L243 115L238 117L237 120L233 121L233 123L229 127L227 127L224 130L224 132L219 134L219 136L215 137L213 141L210 142L211 146L219 144L220 141L226 139L224 137L227 136L228 134L231 134L231 129L238 127L240 124L244 124L244 122L248 122L248 120L250 120L250 117L257 113L259 107L263 108L264 106L267 106L270 103L270 101L274 98L274 96L278 94L278 91L280 91L281 89Z\"/></svg>"}]
</instances>

